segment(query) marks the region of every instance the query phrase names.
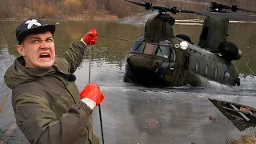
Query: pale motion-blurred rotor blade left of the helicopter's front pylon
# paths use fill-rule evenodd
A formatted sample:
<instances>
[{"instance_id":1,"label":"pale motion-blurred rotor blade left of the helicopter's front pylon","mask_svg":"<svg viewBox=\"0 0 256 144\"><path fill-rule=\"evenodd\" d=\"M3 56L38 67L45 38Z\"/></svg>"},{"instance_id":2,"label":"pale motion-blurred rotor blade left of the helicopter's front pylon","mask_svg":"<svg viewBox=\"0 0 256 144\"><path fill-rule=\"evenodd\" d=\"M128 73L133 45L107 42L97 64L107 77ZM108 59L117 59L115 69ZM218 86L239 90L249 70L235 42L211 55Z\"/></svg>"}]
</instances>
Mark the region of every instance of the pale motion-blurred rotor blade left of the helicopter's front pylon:
<instances>
[{"instance_id":1,"label":"pale motion-blurred rotor blade left of the helicopter's front pylon","mask_svg":"<svg viewBox=\"0 0 256 144\"><path fill-rule=\"evenodd\" d=\"M150 11L136 14L131 17L121 18L118 21L118 23L141 26L141 25L144 25L148 19L153 19L156 16L158 16L158 14L159 14L159 10L150 10Z\"/></svg>"}]
</instances>

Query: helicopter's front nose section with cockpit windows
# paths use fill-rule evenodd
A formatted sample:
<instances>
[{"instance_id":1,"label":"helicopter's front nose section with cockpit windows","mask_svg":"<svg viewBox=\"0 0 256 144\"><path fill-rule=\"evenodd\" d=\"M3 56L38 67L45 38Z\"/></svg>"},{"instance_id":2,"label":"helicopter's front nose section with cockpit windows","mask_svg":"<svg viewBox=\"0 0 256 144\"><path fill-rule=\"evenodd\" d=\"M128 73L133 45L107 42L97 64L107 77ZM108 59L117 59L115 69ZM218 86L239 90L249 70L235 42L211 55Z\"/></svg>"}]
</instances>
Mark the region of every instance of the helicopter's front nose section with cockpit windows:
<instances>
[{"instance_id":1,"label":"helicopter's front nose section with cockpit windows","mask_svg":"<svg viewBox=\"0 0 256 144\"><path fill-rule=\"evenodd\" d=\"M174 45L168 40L158 43L145 42L143 36L139 37L130 50L127 58L126 72L129 72L136 82L136 78L146 78L145 82L156 82L163 75L174 73L176 51ZM167 70L168 69L168 70ZM155 77L156 76L156 77ZM162 83L163 84L163 83Z\"/></svg>"}]
</instances>

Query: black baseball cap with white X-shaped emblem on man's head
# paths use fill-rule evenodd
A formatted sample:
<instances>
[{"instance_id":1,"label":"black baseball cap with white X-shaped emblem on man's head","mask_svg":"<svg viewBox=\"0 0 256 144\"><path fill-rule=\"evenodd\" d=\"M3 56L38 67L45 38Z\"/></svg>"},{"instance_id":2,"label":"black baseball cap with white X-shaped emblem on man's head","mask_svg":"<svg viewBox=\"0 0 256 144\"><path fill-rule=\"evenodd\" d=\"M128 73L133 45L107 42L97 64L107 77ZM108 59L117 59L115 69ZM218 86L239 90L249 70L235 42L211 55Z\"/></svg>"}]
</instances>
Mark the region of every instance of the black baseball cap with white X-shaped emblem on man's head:
<instances>
[{"instance_id":1,"label":"black baseball cap with white X-shaped emblem on man's head","mask_svg":"<svg viewBox=\"0 0 256 144\"><path fill-rule=\"evenodd\" d=\"M54 35L55 25L48 25L43 20L27 19L15 30L18 45L22 43L27 35L33 34L35 31L50 31Z\"/></svg>"}]
</instances>

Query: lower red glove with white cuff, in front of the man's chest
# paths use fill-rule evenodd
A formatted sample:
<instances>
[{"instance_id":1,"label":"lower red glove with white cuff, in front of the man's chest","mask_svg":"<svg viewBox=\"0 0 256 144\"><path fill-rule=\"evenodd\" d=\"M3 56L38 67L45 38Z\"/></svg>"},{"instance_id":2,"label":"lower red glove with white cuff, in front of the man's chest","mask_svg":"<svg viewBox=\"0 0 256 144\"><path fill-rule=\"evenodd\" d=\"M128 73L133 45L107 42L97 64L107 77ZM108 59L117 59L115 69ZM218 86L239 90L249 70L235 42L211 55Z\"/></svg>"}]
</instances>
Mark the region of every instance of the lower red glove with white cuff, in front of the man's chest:
<instances>
[{"instance_id":1,"label":"lower red glove with white cuff, in front of the man's chest","mask_svg":"<svg viewBox=\"0 0 256 144\"><path fill-rule=\"evenodd\" d=\"M98 106L104 99L104 96L101 90L99 90L98 85L90 83L82 90L80 93L80 98L89 98L96 103L96 106Z\"/></svg>"}]
</instances>

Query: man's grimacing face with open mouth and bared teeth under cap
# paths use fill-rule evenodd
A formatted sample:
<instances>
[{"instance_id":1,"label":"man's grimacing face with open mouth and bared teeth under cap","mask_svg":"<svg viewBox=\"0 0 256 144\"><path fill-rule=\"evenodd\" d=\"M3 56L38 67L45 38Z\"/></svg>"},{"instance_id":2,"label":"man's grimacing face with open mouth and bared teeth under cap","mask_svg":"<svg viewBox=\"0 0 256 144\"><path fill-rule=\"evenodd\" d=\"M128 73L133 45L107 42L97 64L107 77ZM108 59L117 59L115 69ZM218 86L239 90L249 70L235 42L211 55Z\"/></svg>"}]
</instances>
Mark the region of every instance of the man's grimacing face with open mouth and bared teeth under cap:
<instances>
[{"instance_id":1,"label":"man's grimacing face with open mouth and bared teeth under cap","mask_svg":"<svg viewBox=\"0 0 256 144\"><path fill-rule=\"evenodd\" d=\"M26 67L47 69L54 64L54 38L49 31L26 36L17 50L24 57Z\"/></svg>"}]
</instances>

